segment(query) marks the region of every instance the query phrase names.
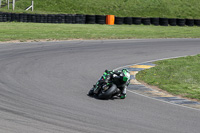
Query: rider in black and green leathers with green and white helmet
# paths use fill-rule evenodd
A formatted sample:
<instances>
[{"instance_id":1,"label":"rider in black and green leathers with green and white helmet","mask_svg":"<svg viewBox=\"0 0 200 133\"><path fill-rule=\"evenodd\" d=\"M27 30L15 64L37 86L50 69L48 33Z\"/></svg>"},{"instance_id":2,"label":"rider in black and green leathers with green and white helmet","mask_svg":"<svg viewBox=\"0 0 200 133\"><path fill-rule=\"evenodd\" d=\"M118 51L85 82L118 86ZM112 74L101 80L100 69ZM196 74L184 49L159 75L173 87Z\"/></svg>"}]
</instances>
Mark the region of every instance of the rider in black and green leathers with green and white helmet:
<instances>
[{"instance_id":1,"label":"rider in black and green leathers with green and white helmet","mask_svg":"<svg viewBox=\"0 0 200 133\"><path fill-rule=\"evenodd\" d=\"M100 80L97 82L96 85L94 85L94 88L92 88L88 95L92 96L94 95L93 90L95 87L98 87L101 85L101 79L109 75L113 83L119 88L120 92L115 95L118 98L125 99L126 98L126 89L130 83L130 72L127 69L122 69L121 71L110 71L105 70L103 76L100 78Z\"/></svg>"}]
</instances>

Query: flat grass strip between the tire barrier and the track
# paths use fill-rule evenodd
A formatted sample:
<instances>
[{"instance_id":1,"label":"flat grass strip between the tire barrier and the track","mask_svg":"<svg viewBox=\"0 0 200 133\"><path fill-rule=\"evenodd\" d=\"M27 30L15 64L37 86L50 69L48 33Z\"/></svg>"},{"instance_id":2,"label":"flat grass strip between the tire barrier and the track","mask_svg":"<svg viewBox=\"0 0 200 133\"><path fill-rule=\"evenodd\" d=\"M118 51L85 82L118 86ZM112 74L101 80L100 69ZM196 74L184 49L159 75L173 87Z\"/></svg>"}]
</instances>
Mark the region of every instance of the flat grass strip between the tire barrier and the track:
<instances>
[{"instance_id":1,"label":"flat grass strip between the tire barrier and the track","mask_svg":"<svg viewBox=\"0 0 200 133\"><path fill-rule=\"evenodd\" d=\"M0 41L39 39L200 38L200 27L0 23Z\"/></svg>"}]
</instances>

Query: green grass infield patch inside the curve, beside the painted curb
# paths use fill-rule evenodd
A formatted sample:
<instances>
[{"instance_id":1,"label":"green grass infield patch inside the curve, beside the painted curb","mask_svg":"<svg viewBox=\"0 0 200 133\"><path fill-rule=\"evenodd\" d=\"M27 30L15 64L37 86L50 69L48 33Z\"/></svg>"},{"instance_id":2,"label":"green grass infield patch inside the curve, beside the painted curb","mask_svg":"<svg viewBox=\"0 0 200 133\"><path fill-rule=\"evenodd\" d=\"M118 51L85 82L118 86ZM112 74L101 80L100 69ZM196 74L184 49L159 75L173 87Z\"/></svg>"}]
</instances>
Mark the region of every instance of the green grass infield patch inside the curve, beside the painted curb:
<instances>
[{"instance_id":1,"label":"green grass infield patch inside the curve, beside the painted curb","mask_svg":"<svg viewBox=\"0 0 200 133\"><path fill-rule=\"evenodd\" d=\"M155 62L156 67L140 71L136 78L174 95L200 101L200 54Z\"/></svg>"}]
</instances>

